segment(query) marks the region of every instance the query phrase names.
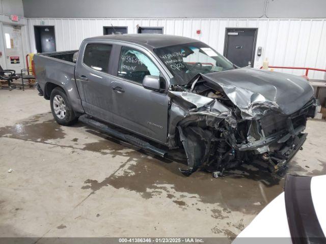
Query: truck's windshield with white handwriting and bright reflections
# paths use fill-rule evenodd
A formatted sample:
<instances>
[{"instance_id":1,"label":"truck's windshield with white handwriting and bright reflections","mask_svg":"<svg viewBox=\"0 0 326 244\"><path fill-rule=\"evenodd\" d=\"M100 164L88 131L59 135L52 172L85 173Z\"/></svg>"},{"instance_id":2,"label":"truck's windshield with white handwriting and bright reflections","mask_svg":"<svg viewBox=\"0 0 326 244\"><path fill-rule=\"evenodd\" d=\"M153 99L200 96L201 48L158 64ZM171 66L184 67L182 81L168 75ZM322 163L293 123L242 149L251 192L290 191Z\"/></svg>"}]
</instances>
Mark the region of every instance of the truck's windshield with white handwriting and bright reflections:
<instances>
[{"instance_id":1,"label":"truck's windshield with white handwriting and bright reflections","mask_svg":"<svg viewBox=\"0 0 326 244\"><path fill-rule=\"evenodd\" d=\"M175 78L187 84L196 74L234 69L232 63L202 42L155 48L154 52Z\"/></svg>"}]
</instances>

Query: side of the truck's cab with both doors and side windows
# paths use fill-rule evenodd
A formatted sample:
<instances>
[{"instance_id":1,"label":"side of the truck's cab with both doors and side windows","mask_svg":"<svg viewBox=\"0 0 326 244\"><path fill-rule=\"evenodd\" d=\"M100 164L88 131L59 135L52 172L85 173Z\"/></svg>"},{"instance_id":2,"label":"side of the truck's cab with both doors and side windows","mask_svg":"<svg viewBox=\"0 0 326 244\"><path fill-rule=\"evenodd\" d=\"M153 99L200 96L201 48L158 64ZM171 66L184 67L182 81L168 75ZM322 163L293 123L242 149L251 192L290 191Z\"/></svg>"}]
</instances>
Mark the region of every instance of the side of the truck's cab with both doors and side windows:
<instances>
[{"instance_id":1,"label":"side of the truck's cab with both doors and side windows","mask_svg":"<svg viewBox=\"0 0 326 244\"><path fill-rule=\"evenodd\" d=\"M157 90L143 86L147 76L159 81ZM75 80L87 114L157 142L167 142L170 77L147 48L86 39L79 49Z\"/></svg>"}]
</instances>

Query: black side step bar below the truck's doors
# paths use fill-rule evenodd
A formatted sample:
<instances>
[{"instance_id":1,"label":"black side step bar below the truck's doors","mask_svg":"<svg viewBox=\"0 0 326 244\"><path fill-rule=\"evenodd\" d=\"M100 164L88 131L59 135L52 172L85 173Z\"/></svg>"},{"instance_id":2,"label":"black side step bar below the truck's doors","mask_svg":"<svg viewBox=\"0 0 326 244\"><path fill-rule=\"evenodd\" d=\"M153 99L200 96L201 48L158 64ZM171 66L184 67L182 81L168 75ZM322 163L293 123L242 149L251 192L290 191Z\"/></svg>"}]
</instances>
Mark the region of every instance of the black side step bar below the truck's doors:
<instances>
[{"instance_id":1,"label":"black side step bar below the truck's doors","mask_svg":"<svg viewBox=\"0 0 326 244\"><path fill-rule=\"evenodd\" d=\"M108 134L108 135L111 135L111 136L114 136L120 140L123 140L123 141L126 141L132 145L135 145L137 147L140 147L144 150L147 150L149 151L150 153L153 153L155 155L158 155L160 157L164 157L166 155L166 151L165 150L162 150L162 149L159 149L157 148L156 146L153 146L151 145L150 143L146 142L146 141L143 141L137 137L134 137L134 136L131 136L131 135L128 135L128 134L124 134L124 133L121 133L117 130L114 130L110 127L108 127L107 125L93 119L93 118L90 118L87 114L84 114L82 116L79 117L79 121L90 126L90 127L93 127L99 131L101 131L102 133L105 133L105 134Z\"/></svg>"}]
</instances>

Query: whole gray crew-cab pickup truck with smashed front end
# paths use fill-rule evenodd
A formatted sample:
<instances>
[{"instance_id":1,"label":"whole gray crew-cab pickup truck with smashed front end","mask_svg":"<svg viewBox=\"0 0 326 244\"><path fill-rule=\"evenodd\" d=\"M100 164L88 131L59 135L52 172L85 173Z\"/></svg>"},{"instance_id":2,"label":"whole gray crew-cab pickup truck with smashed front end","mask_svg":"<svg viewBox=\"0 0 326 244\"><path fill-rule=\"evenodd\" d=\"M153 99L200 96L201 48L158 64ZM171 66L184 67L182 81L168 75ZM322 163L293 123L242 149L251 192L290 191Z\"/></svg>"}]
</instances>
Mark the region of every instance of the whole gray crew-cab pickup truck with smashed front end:
<instances>
[{"instance_id":1,"label":"whole gray crew-cab pickup truck with smashed front end","mask_svg":"<svg viewBox=\"0 0 326 244\"><path fill-rule=\"evenodd\" d=\"M185 37L88 38L78 51L36 54L34 63L59 124L79 118L160 156L183 148L185 175L202 168L216 177L254 160L275 172L302 148L315 115L303 77L236 67Z\"/></svg>"}]
</instances>

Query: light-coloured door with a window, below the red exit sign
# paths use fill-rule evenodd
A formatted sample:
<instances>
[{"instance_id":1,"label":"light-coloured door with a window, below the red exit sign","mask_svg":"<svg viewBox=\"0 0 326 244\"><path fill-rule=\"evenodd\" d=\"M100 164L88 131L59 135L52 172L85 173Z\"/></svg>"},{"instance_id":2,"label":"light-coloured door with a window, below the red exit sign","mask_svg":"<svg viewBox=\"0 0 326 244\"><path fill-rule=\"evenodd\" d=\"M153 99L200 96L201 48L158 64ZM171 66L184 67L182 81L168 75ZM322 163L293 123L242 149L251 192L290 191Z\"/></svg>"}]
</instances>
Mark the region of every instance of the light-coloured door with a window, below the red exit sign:
<instances>
[{"instance_id":1,"label":"light-coloured door with a window, below the red exit sign","mask_svg":"<svg viewBox=\"0 0 326 244\"><path fill-rule=\"evenodd\" d=\"M20 70L24 68L20 26L4 24L3 30L7 69L20 73Z\"/></svg>"}]
</instances>

